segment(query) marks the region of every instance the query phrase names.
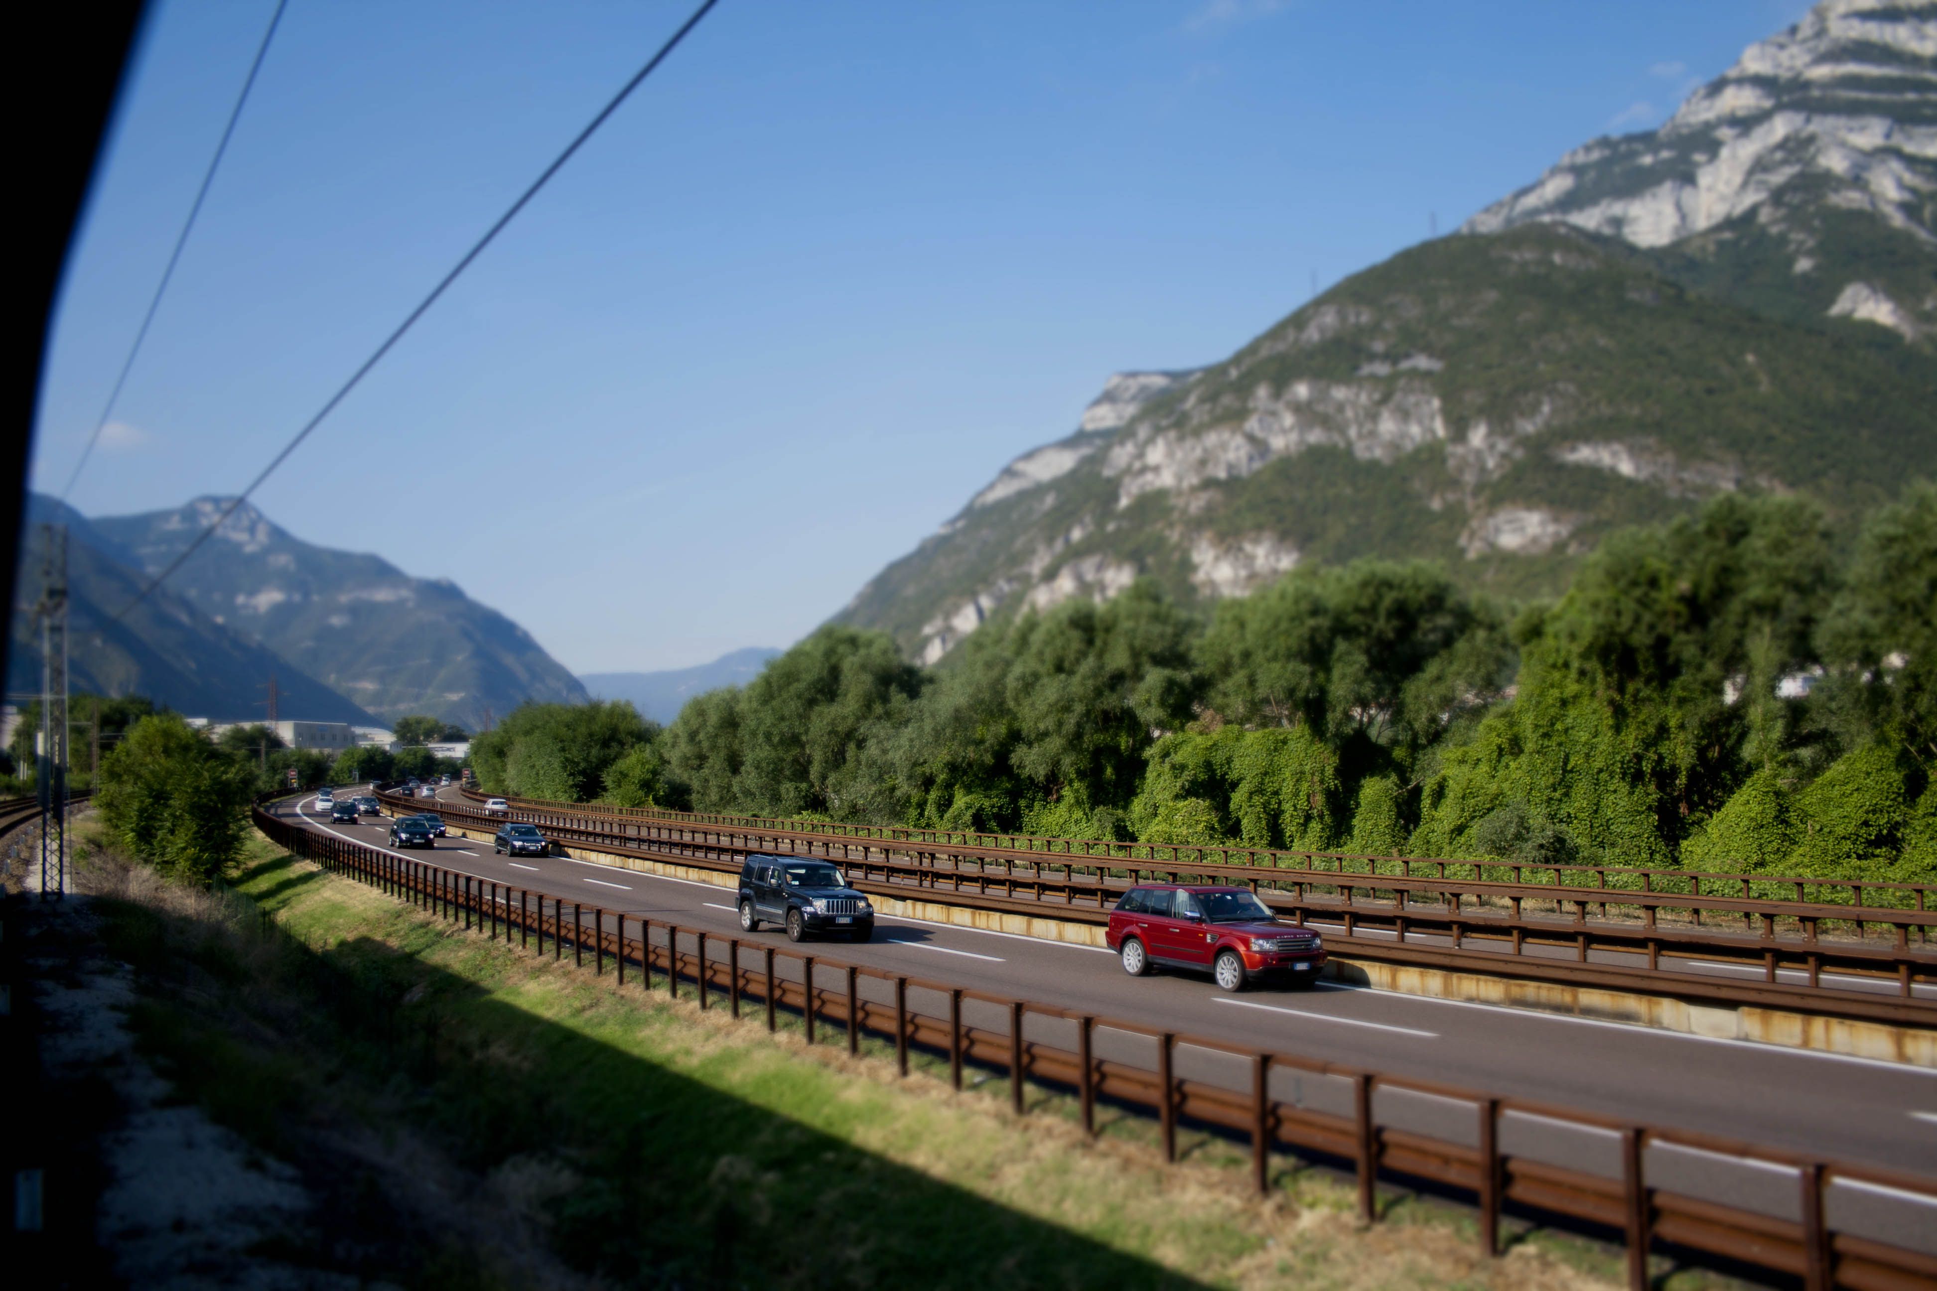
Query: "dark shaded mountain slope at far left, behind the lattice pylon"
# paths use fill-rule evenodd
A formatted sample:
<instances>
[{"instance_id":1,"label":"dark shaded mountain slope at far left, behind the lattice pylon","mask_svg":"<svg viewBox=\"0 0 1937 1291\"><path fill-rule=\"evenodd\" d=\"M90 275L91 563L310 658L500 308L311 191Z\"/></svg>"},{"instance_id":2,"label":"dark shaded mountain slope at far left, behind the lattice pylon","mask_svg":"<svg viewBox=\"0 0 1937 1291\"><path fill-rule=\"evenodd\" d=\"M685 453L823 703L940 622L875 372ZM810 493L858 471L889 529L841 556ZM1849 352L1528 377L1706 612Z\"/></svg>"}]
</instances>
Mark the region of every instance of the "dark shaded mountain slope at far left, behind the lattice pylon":
<instances>
[{"instance_id":1,"label":"dark shaded mountain slope at far left, behind the lattice pylon","mask_svg":"<svg viewBox=\"0 0 1937 1291\"><path fill-rule=\"evenodd\" d=\"M21 544L19 596L41 596L43 544L39 526L68 526L68 676L70 689L97 695L147 695L176 712L217 722L267 716L269 677L279 714L316 722L376 724L263 645L217 623L190 600L163 586L124 619L120 614L147 583L120 546L87 517L50 497L31 495L29 528ZM41 637L31 614L15 612L8 643L8 691L41 691Z\"/></svg>"}]
</instances>

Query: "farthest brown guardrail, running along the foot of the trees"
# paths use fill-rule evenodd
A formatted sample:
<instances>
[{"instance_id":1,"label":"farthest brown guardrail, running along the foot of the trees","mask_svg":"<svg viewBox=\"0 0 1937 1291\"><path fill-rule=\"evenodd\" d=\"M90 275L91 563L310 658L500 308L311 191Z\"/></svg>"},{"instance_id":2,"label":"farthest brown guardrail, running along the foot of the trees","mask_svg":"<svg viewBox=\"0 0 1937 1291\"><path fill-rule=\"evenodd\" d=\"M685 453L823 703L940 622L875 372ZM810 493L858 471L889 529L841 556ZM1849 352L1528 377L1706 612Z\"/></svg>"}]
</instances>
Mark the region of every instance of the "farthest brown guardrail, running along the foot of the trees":
<instances>
[{"instance_id":1,"label":"farthest brown guardrail, running along the foot of the trees","mask_svg":"<svg viewBox=\"0 0 1937 1291\"><path fill-rule=\"evenodd\" d=\"M473 799L502 797L457 786ZM581 815L612 815L631 821L666 821L693 826L746 828L783 834L814 834L876 842L936 852L963 850L976 856L1019 854L1025 857L1085 857L1091 863L1137 863L1149 869L1187 869L1203 873L1205 865L1244 865L1247 869L1300 869L1352 877L1412 879L1416 867L1428 867L1430 879L1472 879L1484 883L1540 885L1540 875L1552 875L1552 885L1594 890L1639 890L1660 894L1701 896L1703 885L1712 894L1739 886L1739 896L1759 900L1790 900L1836 906L1883 906L1908 910L1937 910L1937 883L1883 883L1863 879L1821 879L1811 875L1745 875L1695 869L1645 869L1631 865L1532 865L1526 861L1486 861L1472 857L1408 857L1366 856L1358 852L1298 852L1288 848L1242 848L1199 844L1112 842L1085 838L1046 838L1032 834L992 834L978 830L908 828L899 825L841 825L829 821L788 821L705 811L670 811L666 807L610 807L602 803L560 803L542 797L511 797L519 807L535 811L573 811ZM1288 863L1290 861L1290 863ZM1511 877L1509 877L1511 875ZM1573 879L1565 879L1573 875ZM1794 896L1792 896L1794 894ZM1865 896L1867 894L1867 896Z\"/></svg>"}]
</instances>

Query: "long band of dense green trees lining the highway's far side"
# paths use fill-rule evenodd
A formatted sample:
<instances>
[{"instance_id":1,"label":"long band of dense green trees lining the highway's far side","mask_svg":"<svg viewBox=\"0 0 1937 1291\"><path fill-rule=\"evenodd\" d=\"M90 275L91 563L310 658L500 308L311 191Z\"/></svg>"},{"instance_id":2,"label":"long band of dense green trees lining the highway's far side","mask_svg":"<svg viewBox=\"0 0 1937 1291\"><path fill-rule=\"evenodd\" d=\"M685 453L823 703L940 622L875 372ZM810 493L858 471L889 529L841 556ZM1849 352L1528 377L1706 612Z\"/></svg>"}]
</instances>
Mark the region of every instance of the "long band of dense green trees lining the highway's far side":
<instances>
[{"instance_id":1,"label":"long band of dense green trees lining the highway's far side","mask_svg":"<svg viewBox=\"0 0 1937 1291\"><path fill-rule=\"evenodd\" d=\"M661 730L527 706L484 788L959 830L1937 879L1937 488L1838 536L1728 494L1553 602L1298 569L1199 619L1154 583L939 666L823 627Z\"/></svg>"}]
</instances>

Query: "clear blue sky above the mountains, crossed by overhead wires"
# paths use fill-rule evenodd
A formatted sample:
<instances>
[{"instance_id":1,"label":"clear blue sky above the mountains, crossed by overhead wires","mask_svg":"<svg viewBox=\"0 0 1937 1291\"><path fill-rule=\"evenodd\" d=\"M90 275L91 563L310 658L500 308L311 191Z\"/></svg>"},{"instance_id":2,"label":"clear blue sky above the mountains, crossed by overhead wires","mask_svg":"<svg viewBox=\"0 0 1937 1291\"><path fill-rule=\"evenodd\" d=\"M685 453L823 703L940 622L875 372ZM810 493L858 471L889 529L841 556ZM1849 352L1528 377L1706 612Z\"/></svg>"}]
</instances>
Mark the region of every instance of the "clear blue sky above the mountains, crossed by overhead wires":
<instances>
[{"instance_id":1,"label":"clear blue sky above the mountains, crossed by overhead wires","mask_svg":"<svg viewBox=\"0 0 1937 1291\"><path fill-rule=\"evenodd\" d=\"M89 515L231 494L690 6L292 0ZM151 15L62 294L58 492L269 0ZM1061 437L1658 124L1798 0L723 0L260 494L575 672L788 645Z\"/></svg>"}]
</instances>

